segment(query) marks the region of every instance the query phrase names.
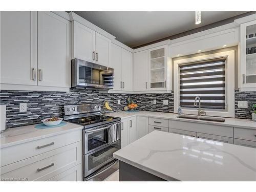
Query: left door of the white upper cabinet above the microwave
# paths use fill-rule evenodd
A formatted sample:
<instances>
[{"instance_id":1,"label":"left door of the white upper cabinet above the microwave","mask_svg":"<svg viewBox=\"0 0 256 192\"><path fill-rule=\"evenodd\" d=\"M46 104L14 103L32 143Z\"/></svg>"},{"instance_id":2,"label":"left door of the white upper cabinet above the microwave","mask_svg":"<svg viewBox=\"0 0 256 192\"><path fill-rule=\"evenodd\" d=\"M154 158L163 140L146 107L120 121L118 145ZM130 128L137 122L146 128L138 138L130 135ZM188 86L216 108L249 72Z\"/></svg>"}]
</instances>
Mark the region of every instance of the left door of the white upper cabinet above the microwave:
<instances>
[{"instance_id":1,"label":"left door of the white upper cabinet above the microwave","mask_svg":"<svg viewBox=\"0 0 256 192\"><path fill-rule=\"evenodd\" d=\"M75 20L72 22L71 57L95 62L95 31Z\"/></svg>"}]
</instances>

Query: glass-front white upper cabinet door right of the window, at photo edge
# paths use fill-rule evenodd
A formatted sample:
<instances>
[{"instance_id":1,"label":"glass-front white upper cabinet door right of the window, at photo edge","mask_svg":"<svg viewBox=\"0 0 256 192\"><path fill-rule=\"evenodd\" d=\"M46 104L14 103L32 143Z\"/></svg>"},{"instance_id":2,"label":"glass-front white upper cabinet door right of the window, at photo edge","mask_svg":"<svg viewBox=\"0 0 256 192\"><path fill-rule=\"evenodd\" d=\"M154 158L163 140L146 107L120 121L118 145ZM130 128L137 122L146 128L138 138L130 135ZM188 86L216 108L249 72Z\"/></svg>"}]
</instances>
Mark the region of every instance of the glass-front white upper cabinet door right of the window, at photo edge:
<instances>
[{"instance_id":1,"label":"glass-front white upper cabinet door right of the window, at photo edge","mask_svg":"<svg viewBox=\"0 0 256 192\"><path fill-rule=\"evenodd\" d=\"M256 88L256 20L241 24L241 87Z\"/></svg>"}]
</instances>

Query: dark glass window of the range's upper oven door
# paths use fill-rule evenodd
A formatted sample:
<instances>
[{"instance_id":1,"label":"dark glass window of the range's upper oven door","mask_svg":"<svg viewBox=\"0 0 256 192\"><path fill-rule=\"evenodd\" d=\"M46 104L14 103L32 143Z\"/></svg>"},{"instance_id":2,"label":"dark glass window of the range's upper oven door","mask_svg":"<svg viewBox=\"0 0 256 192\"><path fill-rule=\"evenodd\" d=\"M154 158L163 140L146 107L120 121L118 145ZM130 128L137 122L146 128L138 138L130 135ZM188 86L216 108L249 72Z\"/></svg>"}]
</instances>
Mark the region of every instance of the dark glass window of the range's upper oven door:
<instances>
[{"instance_id":1,"label":"dark glass window of the range's upper oven door","mask_svg":"<svg viewBox=\"0 0 256 192\"><path fill-rule=\"evenodd\" d=\"M88 134L88 151L108 143L108 129L95 131Z\"/></svg>"}]
</instances>

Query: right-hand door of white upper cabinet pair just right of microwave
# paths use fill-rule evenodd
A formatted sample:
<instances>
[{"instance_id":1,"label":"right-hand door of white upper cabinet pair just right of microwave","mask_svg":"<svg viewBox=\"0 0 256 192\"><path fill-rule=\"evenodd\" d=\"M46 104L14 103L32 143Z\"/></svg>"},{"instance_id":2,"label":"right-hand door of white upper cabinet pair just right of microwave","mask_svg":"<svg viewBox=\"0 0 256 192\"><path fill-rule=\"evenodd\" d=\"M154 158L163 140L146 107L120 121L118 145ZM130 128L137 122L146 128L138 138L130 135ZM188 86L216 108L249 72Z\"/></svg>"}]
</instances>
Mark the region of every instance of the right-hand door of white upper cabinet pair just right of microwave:
<instances>
[{"instance_id":1,"label":"right-hand door of white upper cabinet pair just right of microwave","mask_svg":"<svg viewBox=\"0 0 256 192\"><path fill-rule=\"evenodd\" d=\"M133 91L133 53L122 49L122 90Z\"/></svg>"}]
</instances>

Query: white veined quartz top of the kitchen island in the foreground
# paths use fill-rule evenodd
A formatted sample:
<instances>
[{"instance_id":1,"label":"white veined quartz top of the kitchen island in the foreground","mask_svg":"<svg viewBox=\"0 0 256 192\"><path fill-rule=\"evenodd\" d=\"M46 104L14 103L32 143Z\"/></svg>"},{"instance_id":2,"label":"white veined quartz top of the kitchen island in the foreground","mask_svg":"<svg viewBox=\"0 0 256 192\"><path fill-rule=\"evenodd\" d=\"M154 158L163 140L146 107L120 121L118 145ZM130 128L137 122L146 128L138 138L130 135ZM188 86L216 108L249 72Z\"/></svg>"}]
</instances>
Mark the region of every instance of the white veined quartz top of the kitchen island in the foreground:
<instances>
[{"instance_id":1,"label":"white veined quartz top of the kitchen island in the foreground","mask_svg":"<svg viewBox=\"0 0 256 192\"><path fill-rule=\"evenodd\" d=\"M256 148L153 131L114 158L165 180L256 181Z\"/></svg>"}]
</instances>

